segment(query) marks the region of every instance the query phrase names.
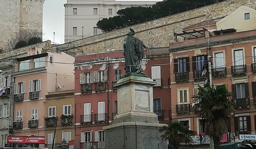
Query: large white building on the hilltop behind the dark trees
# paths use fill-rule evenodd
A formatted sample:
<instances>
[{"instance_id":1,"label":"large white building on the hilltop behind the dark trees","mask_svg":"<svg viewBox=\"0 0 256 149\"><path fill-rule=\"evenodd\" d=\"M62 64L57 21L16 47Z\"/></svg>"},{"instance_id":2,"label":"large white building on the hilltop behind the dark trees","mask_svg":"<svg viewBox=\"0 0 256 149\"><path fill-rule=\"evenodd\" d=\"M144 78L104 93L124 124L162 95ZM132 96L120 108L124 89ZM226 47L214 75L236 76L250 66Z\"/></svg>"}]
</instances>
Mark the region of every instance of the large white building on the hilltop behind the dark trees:
<instances>
[{"instance_id":1,"label":"large white building on the hilltop behind the dark trees","mask_svg":"<svg viewBox=\"0 0 256 149\"><path fill-rule=\"evenodd\" d=\"M157 1L67 0L65 7L65 43L100 34L96 24L117 11L132 6L150 7ZM83 27L83 28L82 28Z\"/></svg>"}]
</instances>

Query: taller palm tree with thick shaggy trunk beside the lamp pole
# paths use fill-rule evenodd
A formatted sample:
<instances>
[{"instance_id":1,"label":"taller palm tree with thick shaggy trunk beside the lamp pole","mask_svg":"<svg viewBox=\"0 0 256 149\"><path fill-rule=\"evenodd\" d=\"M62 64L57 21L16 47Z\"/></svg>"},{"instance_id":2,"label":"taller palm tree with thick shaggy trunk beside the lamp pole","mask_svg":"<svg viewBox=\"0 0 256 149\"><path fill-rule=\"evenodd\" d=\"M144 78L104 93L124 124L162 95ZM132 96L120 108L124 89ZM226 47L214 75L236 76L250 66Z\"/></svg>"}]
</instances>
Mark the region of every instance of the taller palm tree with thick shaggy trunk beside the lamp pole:
<instances>
[{"instance_id":1,"label":"taller palm tree with thick shaggy trunk beside the lamp pole","mask_svg":"<svg viewBox=\"0 0 256 149\"><path fill-rule=\"evenodd\" d=\"M200 109L199 116L206 120L205 133L213 138L214 148L219 149L219 141L222 135L228 132L232 125L232 113L234 106L230 98L232 93L227 85L223 84L216 89L208 86L199 86L197 95L194 95L194 110Z\"/></svg>"}]
</instances>

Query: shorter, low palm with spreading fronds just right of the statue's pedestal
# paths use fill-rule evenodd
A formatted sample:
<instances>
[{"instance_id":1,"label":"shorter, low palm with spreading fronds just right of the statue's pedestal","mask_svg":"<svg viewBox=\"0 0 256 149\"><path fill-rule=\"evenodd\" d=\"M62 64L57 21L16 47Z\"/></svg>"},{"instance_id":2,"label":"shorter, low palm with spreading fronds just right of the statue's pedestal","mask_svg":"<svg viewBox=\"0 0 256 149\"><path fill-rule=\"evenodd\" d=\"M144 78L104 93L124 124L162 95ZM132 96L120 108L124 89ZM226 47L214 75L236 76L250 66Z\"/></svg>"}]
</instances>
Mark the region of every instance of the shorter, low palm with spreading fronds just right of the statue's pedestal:
<instances>
[{"instance_id":1,"label":"shorter, low palm with spreading fronds just right of the statue's pedestal","mask_svg":"<svg viewBox=\"0 0 256 149\"><path fill-rule=\"evenodd\" d=\"M192 144L192 136L196 135L195 131L189 130L189 126L184 126L181 121L172 121L164 125L160 130L162 141L169 141L174 149L179 149L181 143Z\"/></svg>"}]
</instances>

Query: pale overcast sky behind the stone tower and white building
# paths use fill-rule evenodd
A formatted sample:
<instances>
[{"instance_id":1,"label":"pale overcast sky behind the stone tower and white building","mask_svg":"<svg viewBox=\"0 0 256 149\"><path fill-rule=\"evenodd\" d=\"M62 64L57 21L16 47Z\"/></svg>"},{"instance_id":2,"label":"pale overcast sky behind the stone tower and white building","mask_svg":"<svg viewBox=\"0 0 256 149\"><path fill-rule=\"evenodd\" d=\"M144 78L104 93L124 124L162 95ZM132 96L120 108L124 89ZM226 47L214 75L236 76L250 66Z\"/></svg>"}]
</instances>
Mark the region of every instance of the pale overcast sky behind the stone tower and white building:
<instances>
[{"instance_id":1,"label":"pale overcast sky behind the stone tower and white building","mask_svg":"<svg viewBox=\"0 0 256 149\"><path fill-rule=\"evenodd\" d=\"M116 1L156 1L156 0L116 0ZM162 1L162 0L159 0ZM53 42L53 32L55 32L56 43L64 43L64 19L66 0L46 0L43 10L43 41Z\"/></svg>"}]
</instances>

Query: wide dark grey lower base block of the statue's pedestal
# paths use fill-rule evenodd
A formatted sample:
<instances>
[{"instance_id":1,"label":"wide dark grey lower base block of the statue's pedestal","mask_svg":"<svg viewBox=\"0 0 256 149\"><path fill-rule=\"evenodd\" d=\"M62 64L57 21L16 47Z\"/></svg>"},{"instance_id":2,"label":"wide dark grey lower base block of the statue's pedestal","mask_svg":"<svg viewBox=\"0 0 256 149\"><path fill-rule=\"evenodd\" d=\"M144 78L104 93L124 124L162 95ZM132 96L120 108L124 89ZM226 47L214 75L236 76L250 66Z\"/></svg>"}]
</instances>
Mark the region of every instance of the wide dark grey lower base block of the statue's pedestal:
<instances>
[{"instance_id":1,"label":"wide dark grey lower base block of the statue's pedestal","mask_svg":"<svg viewBox=\"0 0 256 149\"><path fill-rule=\"evenodd\" d=\"M104 126L105 149L167 149L160 140L159 129L164 124L124 122Z\"/></svg>"}]
</instances>

